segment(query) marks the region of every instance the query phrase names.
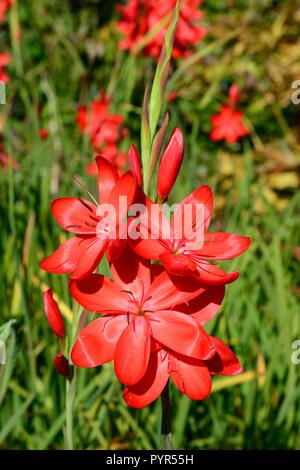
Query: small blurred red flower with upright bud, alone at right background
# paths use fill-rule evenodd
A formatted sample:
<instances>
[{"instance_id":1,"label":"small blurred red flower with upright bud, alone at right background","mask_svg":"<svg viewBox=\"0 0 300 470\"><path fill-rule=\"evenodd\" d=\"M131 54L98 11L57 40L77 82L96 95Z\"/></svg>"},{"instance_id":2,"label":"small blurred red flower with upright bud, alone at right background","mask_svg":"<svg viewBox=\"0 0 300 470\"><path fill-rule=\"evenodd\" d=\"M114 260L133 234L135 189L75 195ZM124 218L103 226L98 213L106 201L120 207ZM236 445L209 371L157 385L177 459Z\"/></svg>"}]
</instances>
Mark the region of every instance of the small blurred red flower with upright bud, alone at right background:
<instances>
[{"instance_id":1,"label":"small blurred red flower with upright bud, alone at right background","mask_svg":"<svg viewBox=\"0 0 300 470\"><path fill-rule=\"evenodd\" d=\"M236 109L238 101L239 89L236 84L233 84L229 90L228 104L223 104L221 111L211 119L213 130L210 136L215 142L225 139L228 144L234 144L249 134L243 122L243 112Z\"/></svg>"}]
</instances>

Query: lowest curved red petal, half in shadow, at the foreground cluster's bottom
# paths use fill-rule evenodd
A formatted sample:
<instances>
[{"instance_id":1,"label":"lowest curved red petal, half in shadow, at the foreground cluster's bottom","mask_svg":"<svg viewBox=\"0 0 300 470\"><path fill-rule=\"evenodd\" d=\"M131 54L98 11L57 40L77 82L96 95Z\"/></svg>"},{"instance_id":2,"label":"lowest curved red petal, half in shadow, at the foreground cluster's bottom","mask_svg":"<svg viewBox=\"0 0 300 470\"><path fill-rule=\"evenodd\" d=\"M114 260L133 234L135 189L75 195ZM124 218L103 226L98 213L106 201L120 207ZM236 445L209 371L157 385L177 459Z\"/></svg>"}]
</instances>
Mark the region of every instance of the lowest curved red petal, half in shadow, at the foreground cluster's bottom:
<instances>
[{"instance_id":1,"label":"lowest curved red petal, half in shadow, at the foreground cluster's bottom","mask_svg":"<svg viewBox=\"0 0 300 470\"><path fill-rule=\"evenodd\" d=\"M162 350L152 353L144 377L125 388L123 399L132 408L144 408L160 396L168 378L168 354Z\"/></svg>"}]
</instances>

